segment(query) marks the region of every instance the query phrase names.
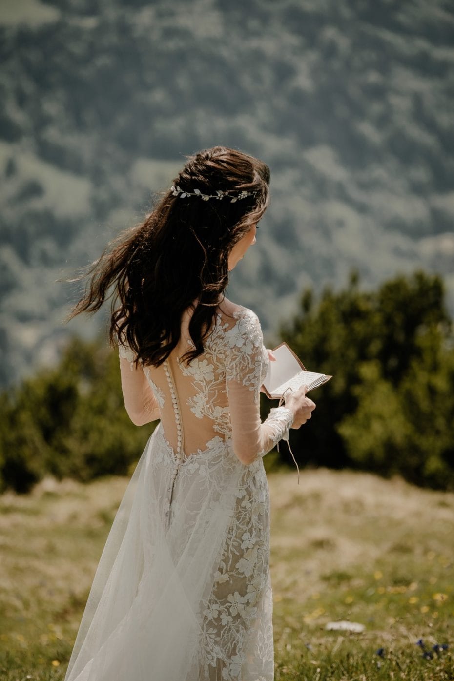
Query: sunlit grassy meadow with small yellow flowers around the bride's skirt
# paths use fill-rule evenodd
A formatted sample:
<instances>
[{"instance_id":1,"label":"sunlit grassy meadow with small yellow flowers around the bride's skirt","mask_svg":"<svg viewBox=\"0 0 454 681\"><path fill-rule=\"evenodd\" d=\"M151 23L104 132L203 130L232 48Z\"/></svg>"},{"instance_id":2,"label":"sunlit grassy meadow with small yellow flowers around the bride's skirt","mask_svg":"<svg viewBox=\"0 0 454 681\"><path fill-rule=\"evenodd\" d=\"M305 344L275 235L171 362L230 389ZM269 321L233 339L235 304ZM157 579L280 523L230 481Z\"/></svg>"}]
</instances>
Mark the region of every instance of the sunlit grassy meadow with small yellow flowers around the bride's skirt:
<instances>
[{"instance_id":1,"label":"sunlit grassy meadow with small yellow flowers around the bride's skirt","mask_svg":"<svg viewBox=\"0 0 454 681\"><path fill-rule=\"evenodd\" d=\"M454 679L454 494L326 470L269 481L276 681ZM126 484L0 497L1 681L63 679ZM325 629L338 620L365 628Z\"/></svg>"}]
</instances>

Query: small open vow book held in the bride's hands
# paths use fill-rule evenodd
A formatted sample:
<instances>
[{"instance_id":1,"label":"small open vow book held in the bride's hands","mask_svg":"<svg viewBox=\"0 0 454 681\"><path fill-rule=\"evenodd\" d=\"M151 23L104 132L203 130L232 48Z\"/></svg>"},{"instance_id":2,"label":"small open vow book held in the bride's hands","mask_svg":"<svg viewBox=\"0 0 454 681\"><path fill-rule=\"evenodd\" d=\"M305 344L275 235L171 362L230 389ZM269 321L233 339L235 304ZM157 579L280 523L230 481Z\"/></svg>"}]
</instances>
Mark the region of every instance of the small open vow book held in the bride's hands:
<instances>
[{"instance_id":1,"label":"small open vow book held in the bride's hands","mask_svg":"<svg viewBox=\"0 0 454 681\"><path fill-rule=\"evenodd\" d=\"M325 374L315 374L306 371L303 363L297 358L287 343L281 343L273 350L276 362L270 362L268 373L263 381L265 394L272 400L277 400L284 393L298 390L307 385L308 390L323 385L332 378Z\"/></svg>"}]
</instances>

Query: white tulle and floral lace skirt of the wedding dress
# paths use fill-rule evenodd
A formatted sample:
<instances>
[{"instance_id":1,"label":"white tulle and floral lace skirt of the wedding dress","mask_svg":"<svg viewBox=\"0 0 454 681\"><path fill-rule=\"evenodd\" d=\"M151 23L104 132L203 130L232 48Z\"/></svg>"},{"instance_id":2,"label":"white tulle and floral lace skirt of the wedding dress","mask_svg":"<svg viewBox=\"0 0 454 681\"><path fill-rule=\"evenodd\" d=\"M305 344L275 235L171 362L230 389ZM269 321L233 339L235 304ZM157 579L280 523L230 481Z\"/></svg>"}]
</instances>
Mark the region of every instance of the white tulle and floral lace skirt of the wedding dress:
<instances>
[{"instance_id":1,"label":"white tulle and floral lace skirt of the wedding dress","mask_svg":"<svg viewBox=\"0 0 454 681\"><path fill-rule=\"evenodd\" d=\"M220 437L178 462L161 425L103 550L65 681L272 681L263 462Z\"/></svg>"}]
</instances>

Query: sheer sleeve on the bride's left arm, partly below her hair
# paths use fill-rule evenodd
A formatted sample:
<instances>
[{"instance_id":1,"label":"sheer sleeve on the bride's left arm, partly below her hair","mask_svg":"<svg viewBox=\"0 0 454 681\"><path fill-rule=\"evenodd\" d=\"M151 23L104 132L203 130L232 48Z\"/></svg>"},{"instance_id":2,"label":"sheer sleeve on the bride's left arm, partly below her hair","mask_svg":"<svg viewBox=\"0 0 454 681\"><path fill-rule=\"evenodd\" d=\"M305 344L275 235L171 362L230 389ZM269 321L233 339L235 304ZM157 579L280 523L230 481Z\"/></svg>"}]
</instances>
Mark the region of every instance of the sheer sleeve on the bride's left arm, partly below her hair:
<instances>
[{"instance_id":1,"label":"sheer sleeve on the bride's left arm, partly below her hair","mask_svg":"<svg viewBox=\"0 0 454 681\"><path fill-rule=\"evenodd\" d=\"M118 345L121 390L125 409L135 426L159 419L159 404L141 366L134 364L134 353L127 345Z\"/></svg>"}]
</instances>

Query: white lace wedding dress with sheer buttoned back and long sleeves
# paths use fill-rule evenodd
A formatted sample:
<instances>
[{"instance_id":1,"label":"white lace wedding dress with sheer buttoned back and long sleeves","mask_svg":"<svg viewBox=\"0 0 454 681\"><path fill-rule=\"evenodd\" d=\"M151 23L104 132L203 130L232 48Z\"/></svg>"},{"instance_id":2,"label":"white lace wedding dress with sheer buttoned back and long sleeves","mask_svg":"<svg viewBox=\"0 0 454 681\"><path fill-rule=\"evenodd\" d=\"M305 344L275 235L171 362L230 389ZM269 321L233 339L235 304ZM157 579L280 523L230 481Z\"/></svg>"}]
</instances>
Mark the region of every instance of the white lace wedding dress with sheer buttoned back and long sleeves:
<instances>
[{"instance_id":1,"label":"white lace wedding dress with sheer buttoned back and long sleeves","mask_svg":"<svg viewBox=\"0 0 454 681\"><path fill-rule=\"evenodd\" d=\"M220 312L189 366L189 316L159 368L120 347L125 405L160 418L103 550L65 681L272 681L270 515L261 457L292 423L262 424L259 321ZM246 457L257 458L244 464ZM247 459L246 459L247 460Z\"/></svg>"}]
</instances>

